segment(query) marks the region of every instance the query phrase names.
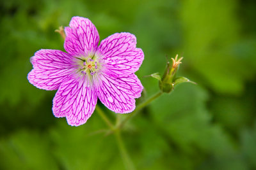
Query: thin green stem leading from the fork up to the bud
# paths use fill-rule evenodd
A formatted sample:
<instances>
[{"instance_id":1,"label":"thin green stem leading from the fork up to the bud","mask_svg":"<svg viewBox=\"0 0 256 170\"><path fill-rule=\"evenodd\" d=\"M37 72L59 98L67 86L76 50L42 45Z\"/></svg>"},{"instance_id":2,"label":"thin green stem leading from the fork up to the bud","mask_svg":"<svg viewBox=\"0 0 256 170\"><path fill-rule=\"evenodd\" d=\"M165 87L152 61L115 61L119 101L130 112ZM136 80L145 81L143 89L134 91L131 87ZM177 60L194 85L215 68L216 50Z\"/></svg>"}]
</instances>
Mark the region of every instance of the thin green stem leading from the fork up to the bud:
<instances>
[{"instance_id":1,"label":"thin green stem leading from the fork up to the bud","mask_svg":"<svg viewBox=\"0 0 256 170\"><path fill-rule=\"evenodd\" d=\"M142 108L144 108L145 106L147 106L149 103L151 103L152 101L154 101L154 99L157 99L157 97L161 96L161 94L163 94L163 92L158 92L157 94L155 94L154 96L150 97L149 99L147 99L145 102L139 104L136 109L134 111L132 111L132 113L130 113L119 125L118 125L118 129L121 129L124 124L132 117L134 117L136 114L138 114L138 111L140 111Z\"/></svg>"}]
</instances>

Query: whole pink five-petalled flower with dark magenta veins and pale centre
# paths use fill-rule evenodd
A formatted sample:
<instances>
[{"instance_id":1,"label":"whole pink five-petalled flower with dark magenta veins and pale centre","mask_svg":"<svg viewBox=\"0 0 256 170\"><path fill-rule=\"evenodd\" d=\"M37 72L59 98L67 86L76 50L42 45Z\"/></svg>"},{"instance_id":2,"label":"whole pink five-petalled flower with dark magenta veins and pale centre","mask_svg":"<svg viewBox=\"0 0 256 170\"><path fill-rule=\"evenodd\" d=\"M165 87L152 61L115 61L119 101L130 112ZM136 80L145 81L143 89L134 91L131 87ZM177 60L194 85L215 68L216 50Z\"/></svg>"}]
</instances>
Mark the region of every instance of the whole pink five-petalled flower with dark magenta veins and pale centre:
<instances>
[{"instance_id":1,"label":"whole pink five-petalled flower with dark magenta veins and pale centre","mask_svg":"<svg viewBox=\"0 0 256 170\"><path fill-rule=\"evenodd\" d=\"M115 33L99 44L99 33L88 18L73 17L65 27L60 50L39 50L31 57L28 80L44 90L58 90L53 99L55 117L66 117L70 125L82 125L92 115L97 98L109 110L130 113L143 86L134 74L144 59L136 48L136 37Z\"/></svg>"}]
</instances>

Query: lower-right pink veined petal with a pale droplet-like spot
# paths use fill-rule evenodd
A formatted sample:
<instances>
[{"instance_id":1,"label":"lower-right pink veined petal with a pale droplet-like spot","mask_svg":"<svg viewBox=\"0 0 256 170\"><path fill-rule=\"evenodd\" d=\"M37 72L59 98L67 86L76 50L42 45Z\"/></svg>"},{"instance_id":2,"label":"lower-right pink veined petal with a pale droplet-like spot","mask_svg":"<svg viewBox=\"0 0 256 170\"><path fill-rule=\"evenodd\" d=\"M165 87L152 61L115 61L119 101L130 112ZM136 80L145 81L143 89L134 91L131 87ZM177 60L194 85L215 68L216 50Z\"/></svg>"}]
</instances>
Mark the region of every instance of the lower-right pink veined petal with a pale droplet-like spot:
<instances>
[{"instance_id":1,"label":"lower-right pink veined petal with a pale droplet-like spot","mask_svg":"<svg viewBox=\"0 0 256 170\"><path fill-rule=\"evenodd\" d=\"M134 73L122 78L102 74L100 80L95 87L97 96L109 110L116 113L130 113L134 110L134 98L140 97L143 90L140 80Z\"/></svg>"}]
</instances>

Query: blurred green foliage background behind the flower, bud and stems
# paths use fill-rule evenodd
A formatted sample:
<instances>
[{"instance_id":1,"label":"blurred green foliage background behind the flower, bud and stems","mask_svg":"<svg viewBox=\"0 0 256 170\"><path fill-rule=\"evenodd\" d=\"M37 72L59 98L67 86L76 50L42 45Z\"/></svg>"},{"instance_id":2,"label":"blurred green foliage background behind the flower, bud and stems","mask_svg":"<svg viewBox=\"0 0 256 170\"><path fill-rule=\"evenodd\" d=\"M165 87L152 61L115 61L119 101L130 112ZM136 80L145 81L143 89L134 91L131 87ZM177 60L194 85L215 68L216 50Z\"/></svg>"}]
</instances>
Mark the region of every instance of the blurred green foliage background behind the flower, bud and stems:
<instances>
[{"instance_id":1,"label":"blurred green foliage background behind the flower, bud and stems","mask_svg":"<svg viewBox=\"0 0 256 170\"><path fill-rule=\"evenodd\" d=\"M95 111L71 127L52 115L55 91L36 89L27 74L36 50L63 49L54 32L73 16L90 18L100 39L137 37L145 60L136 73L163 74L166 55L184 57L184 83L125 125L136 169L256 169L256 1L1 1L0 169L125 169L113 135ZM108 117L115 113L102 104ZM125 117L125 115L122 115Z\"/></svg>"}]
</instances>

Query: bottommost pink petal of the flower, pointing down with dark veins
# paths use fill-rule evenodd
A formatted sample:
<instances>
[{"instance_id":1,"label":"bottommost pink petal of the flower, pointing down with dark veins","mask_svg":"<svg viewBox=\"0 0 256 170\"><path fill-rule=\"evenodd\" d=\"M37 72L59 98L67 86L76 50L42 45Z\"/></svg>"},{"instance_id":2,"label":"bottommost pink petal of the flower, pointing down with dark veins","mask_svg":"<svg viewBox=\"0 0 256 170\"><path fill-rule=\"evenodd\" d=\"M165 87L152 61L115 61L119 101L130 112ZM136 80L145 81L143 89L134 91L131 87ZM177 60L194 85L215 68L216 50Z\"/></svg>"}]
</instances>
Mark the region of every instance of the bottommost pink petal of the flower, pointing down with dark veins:
<instances>
[{"instance_id":1,"label":"bottommost pink petal of the flower, pointing down with dark veins","mask_svg":"<svg viewBox=\"0 0 256 170\"><path fill-rule=\"evenodd\" d=\"M82 125L91 117L97 103L97 95L88 85L86 77L68 77L57 91L52 112L55 117L66 117L69 125Z\"/></svg>"}]
</instances>

